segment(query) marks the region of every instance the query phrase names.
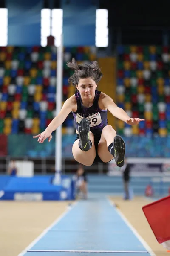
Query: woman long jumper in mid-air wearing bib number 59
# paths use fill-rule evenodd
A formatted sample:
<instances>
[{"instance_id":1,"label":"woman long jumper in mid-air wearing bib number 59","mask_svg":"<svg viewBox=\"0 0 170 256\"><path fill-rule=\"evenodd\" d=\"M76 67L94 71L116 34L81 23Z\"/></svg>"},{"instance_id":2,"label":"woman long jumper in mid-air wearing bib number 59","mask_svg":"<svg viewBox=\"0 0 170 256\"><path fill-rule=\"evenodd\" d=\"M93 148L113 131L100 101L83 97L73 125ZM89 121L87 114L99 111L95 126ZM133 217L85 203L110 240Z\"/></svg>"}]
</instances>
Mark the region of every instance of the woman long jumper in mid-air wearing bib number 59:
<instances>
[{"instance_id":1,"label":"woman long jumper in mid-air wearing bib number 59","mask_svg":"<svg viewBox=\"0 0 170 256\"><path fill-rule=\"evenodd\" d=\"M51 133L61 125L70 112L73 113L77 138L73 144L72 153L77 162L91 166L94 162L108 163L115 158L116 165L124 165L125 142L111 125L108 125L107 111L129 125L137 125L144 119L130 118L119 108L110 96L98 90L97 84L102 78L97 61L89 64L77 64L75 59L68 62L68 67L74 74L68 79L77 92L68 98L56 116L38 137L38 142L51 140Z\"/></svg>"}]
</instances>

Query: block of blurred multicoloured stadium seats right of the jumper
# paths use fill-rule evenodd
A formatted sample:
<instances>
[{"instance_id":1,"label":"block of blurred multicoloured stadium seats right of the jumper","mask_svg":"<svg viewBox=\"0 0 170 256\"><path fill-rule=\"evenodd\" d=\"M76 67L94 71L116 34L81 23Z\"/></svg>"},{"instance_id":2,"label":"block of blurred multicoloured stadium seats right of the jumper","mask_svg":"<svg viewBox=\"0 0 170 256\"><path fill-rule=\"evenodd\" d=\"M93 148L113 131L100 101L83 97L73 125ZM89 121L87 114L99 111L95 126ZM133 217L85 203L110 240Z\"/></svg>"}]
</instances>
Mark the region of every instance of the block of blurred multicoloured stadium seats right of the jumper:
<instances>
[{"instance_id":1,"label":"block of blurred multicoloured stadium seats right of the jumper","mask_svg":"<svg viewBox=\"0 0 170 256\"><path fill-rule=\"evenodd\" d=\"M117 105L131 117L144 118L139 126L117 122L125 136L170 134L170 55L168 47L117 48Z\"/></svg>"}]
</instances>

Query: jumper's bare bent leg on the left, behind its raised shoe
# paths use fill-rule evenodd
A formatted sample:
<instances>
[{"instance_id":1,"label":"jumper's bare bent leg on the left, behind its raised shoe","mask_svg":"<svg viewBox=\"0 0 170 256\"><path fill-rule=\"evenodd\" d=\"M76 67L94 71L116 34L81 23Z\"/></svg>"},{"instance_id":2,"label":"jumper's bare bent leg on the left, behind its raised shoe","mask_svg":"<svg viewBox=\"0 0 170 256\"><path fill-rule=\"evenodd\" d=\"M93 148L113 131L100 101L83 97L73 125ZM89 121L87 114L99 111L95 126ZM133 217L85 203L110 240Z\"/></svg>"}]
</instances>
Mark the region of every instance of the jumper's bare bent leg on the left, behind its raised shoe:
<instances>
[{"instance_id":1,"label":"jumper's bare bent leg on the left, behind its raised shoe","mask_svg":"<svg viewBox=\"0 0 170 256\"><path fill-rule=\"evenodd\" d=\"M94 135L91 133L91 131L89 136L92 142L92 146L88 151L83 151L79 148L79 139L74 142L73 148L72 148L74 159L85 166L91 166L94 162L94 158L96 157L96 149L94 146Z\"/></svg>"}]
</instances>

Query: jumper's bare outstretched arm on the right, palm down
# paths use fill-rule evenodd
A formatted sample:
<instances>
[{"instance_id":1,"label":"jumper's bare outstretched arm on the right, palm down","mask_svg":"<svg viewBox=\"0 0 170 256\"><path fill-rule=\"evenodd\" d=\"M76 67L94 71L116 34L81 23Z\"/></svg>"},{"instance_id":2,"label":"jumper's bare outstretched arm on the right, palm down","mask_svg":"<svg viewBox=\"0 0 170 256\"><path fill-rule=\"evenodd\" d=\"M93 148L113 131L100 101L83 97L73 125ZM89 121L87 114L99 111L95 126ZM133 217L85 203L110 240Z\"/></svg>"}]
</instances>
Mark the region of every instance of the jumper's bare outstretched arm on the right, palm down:
<instances>
[{"instance_id":1,"label":"jumper's bare outstretched arm on the right, palm down","mask_svg":"<svg viewBox=\"0 0 170 256\"><path fill-rule=\"evenodd\" d=\"M129 125L137 125L140 121L144 121L144 119L140 118L130 118L130 116L127 115L127 113L122 109L119 108L114 102L113 99L105 95L102 99L102 103L107 108L113 116L119 118L120 120L126 122Z\"/></svg>"}]
</instances>

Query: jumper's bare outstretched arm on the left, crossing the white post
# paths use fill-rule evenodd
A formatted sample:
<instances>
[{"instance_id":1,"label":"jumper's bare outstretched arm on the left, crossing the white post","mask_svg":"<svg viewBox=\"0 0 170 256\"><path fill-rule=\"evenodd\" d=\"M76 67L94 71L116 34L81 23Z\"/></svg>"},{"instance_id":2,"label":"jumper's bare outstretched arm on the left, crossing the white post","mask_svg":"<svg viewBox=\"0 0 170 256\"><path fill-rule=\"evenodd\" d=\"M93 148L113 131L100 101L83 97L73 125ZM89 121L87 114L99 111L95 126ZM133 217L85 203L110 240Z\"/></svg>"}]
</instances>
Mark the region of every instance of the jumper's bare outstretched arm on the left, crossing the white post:
<instances>
[{"instance_id":1,"label":"jumper's bare outstretched arm on the left, crossing the white post","mask_svg":"<svg viewBox=\"0 0 170 256\"><path fill-rule=\"evenodd\" d=\"M74 108L74 101L73 101L73 97L71 96L69 99L65 101L58 116L54 117L54 119L45 129L45 131L43 131L42 133L36 136L33 136L33 138L38 137L39 143L43 143L44 140L47 138L48 138L48 141L50 142L50 140L52 139L51 133L55 131L59 127L59 125L62 125L62 123L65 121L66 117L73 110L73 108Z\"/></svg>"}]
</instances>

